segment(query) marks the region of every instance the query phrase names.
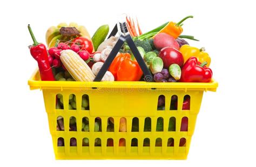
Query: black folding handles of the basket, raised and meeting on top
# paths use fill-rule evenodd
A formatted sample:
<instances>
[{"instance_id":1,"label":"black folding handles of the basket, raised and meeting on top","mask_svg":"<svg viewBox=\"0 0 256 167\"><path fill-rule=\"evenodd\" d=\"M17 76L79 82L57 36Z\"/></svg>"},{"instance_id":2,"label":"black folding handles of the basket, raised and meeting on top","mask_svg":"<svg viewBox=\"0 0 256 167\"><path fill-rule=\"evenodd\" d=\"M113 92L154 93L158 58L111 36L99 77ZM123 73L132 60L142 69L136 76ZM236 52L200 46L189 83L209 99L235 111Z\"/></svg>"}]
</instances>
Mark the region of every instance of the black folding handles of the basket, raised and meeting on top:
<instances>
[{"instance_id":1,"label":"black folding handles of the basket, raised and meeting on top","mask_svg":"<svg viewBox=\"0 0 256 167\"><path fill-rule=\"evenodd\" d=\"M149 71L149 68L147 68L142 56L140 55L140 53L138 51L138 48L134 44L129 31L127 30L125 22L116 24L114 26L114 29L111 31L110 36L108 38L110 38L111 36L115 36L117 34L117 32L119 32L119 38L117 40L117 43L112 48L112 51L110 52L109 56L107 57L106 61L103 64L102 68L100 68L99 73L97 74L97 76L95 77L95 79L93 81L101 81L102 80L102 78L105 75L107 69L109 69L112 61L114 60L114 58L116 57L120 48L122 48L124 42L126 41L126 43L129 45L134 57L136 58L140 68L143 71L144 80L146 82L151 82L153 80L153 77L152 77L152 75Z\"/></svg>"}]
</instances>

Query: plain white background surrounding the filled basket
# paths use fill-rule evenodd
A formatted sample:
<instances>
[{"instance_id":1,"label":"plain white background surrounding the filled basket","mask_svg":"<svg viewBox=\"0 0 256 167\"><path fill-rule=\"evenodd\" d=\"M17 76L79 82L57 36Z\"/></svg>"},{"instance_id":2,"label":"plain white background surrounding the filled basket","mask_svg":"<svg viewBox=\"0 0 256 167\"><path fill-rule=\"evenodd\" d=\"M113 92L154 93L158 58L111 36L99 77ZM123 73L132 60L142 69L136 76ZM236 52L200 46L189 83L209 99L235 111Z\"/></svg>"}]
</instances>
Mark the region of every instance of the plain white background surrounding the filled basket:
<instances>
[{"instance_id":1,"label":"plain white background surrounding the filled basket","mask_svg":"<svg viewBox=\"0 0 256 167\"><path fill-rule=\"evenodd\" d=\"M1 1L0 166L255 166L255 5L253 1ZM40 91L27 81L36 68L27 25L38 41L60 22L98 26L137 16L143 32L193 15L184 33L211 55L216 93L204 94L186 161L55 161Z\"/></svg>"}]
</instances>

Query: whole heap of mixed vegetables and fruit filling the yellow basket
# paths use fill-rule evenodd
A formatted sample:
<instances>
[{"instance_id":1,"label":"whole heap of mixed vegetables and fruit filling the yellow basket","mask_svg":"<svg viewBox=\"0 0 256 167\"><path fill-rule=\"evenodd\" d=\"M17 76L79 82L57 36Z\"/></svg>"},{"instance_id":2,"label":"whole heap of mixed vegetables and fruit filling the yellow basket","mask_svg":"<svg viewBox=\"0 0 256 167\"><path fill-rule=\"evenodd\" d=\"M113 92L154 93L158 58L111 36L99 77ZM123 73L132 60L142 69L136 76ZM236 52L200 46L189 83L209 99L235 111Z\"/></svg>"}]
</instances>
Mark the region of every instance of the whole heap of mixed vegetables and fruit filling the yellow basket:
<instances>
[{"instance_id":1,"label":"whole heap of mixed vegetables and fruit filling the yellow basket","mask_svg":"<svg viewBox=\"0 0 256 167\"><path fill-rule=\"evenodd\" d=\"M188 18L193 18L193 16L185 17L178 23L167 22L156 29L142 33L138 19L136 19L136 24L133 18L126 17L127 29L140 56L152 73L154 82L211 82L212 70L209 68L211 58L205 52L205 48L190 46L185 39L198 40L193 36L181 35L183 22ZM118 37L113 36L106 39L109 25L100 26L91 38L82 25L60 23L49 27L46 31L45 39L48 46L46 48L45 45L36 41L30 25L28 28L33 39L30 52L38 63L43 81L93 81L118 40ZM142 69L130 47L125 43L113 59L102 81L143 81L143 78ZM159 96L158 110L165 110L164 98L164 96ZM76 107L76 97L72 95L69 98L69 109L76 109ZM56 98L56 109L63 109L63 97L60 95ZM87 96L83 96L82 109L89 109ZM170 109L177 109L177 96L172 97ZM183 109L190 109L190 98L184 99ZM57 130L64 130L63 118L58 117L57 122ZM107 123L107 131L113 131L113 119L109 119ZM119 131L126 131L125 118L120 119L119 123ZM95 131L101 131L100 124L101 121L96 119ZM157 131L163 129L163 120L157 121L156 128ZM138 129L138 127L133 126L132 129ZM148 129L151 129L151 122L145 121L144 130ZM169 130L175 129L175 122L170 121ZM70 118L70 130L77 130L76 120L72 117ZM87 118L83 119L82 130L89 131ZM181 130L187 131L187 120L182 121ZM122 146L124 143L121 140L119 145ZM58 145L63 144L62 139L59 139ZM89 141L84 138L83 145L87 144ZM100 141L96 141L97 144L100 145ZM172 144L173 141L169 141L169 145ZM72 141L72 145L76 145L76 141ZM110 146L111 142L108 145Z\"/></svg>"}]
</instances>

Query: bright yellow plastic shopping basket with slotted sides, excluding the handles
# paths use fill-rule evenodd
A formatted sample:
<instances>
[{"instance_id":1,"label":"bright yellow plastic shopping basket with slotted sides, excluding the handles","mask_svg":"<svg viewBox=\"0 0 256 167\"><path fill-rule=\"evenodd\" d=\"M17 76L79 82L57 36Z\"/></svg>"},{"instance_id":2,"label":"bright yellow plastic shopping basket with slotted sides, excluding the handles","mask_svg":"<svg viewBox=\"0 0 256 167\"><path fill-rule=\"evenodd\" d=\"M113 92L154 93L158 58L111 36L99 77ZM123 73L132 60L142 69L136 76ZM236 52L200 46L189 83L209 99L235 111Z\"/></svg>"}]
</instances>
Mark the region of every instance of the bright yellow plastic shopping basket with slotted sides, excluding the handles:
<instances>
[{"instance_id":1,"label":"bright yellow plastic shopping basket with slotted sides, excluding the handles","mask_svg":"<svg viewBox=\"0 0 256 167\"><path fill-rule=\"evenodd\" d=\"M31 89L43 90L45 109L48 113L49 128L52 135L56 159L186 159L191 137L194 132L197 114L204 91L215 91L217 82L211 83L146 83L146 82L65 82L40 81L38 73L29 80ZM56 109L56 95L63 95L64 109ZM76 109L69 110L69 96L76 96ZM89 96L89 110L82 110L82 96ZM165 110L157 110L158 98L165 96ZM171 97L178 96L177 110L170 110ZM182 110L184 96L190 96L190 110ZM64 119L64 131L56 130L57 117ZM76 118L77 131L69 130L70 117ZM89 119L89 131L82 131L82 120ZM95 119L101 120L101 131L94 131ZM114 131L107 131L107 120L114 120ZM127 131L119 132L120 118L124 117ZM144 131L145 119L150 117L151 129ZM173 118L174 117L174 118ZM139 120L138 131L132 131L132 120ZM169 131L169 121L176 122L175 131ZM180 131L181 120L188 119L187 131ZM163 119L163 129L157 131L157 120ZM64 146L58 147L58 138ZM71 138L77 145L70 146ZM83 146L83 139L89 146ZM95 140L100 146L95 146ZM107 147L107 140L113 146ZM119 147L119 140L125 146ZM137 145L131 144L132 140ZM150 141L145 145L144 140ZM161 144L156 145L156 140ZM173 140L173 145L167 145ZM186 144L179 146L181 140Z\"/></svg>"}]
</instances>

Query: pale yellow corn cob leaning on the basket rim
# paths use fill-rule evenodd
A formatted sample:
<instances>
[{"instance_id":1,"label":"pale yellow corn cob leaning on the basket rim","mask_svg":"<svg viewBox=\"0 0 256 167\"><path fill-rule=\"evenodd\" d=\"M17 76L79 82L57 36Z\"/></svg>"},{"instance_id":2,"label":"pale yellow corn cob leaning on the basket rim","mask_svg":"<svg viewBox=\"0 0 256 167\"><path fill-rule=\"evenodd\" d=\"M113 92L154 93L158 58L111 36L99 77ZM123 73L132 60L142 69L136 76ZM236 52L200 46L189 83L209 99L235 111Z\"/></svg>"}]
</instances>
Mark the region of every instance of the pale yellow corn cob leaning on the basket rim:
<instances>
[{"instance_id":1,"label":"pale yellow corn cob leaning on the basket rim","mask_svg":"<svg viewBox=\"0 0 256 167\"><path fill-rule=\"evenodd\" d=\"M95 75L86 62L72 50L60 52L60 60L76 81L93 81Z\"/></svg>"}]
</instances>

